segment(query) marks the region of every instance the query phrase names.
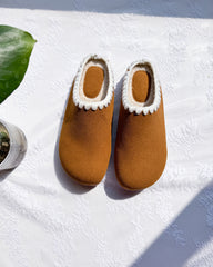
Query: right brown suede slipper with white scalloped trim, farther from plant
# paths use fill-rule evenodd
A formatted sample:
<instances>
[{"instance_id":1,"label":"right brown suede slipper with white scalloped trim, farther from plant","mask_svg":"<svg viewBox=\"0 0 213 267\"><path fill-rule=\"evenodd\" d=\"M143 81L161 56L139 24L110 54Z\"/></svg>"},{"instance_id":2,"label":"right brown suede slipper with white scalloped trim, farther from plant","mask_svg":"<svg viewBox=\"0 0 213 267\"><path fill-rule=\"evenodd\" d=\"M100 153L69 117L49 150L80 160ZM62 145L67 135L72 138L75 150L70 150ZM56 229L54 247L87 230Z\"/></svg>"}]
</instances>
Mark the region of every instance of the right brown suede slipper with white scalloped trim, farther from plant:
<instances>
[{"instance_id":1,"label":"right brown suede slipper with white scalloped trim, farther from plant","mask_svg":"<svg viewBox=\"0 0 213 267\"><path fill-rule=\"evenodd\" d=\"M153 185L166 162L163 98L149 61L136 61L124 77L114 152L122 187L141 190Z\"/></svg>"}]
</instances>

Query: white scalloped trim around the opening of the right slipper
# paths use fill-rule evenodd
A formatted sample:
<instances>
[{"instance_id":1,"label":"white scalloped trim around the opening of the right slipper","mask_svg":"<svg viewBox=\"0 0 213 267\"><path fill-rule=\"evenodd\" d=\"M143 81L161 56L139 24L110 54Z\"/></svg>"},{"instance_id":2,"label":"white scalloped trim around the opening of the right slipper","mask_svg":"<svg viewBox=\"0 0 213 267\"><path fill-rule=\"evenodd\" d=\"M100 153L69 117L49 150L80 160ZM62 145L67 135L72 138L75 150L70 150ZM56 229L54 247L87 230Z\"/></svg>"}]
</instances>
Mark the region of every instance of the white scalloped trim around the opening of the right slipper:
<instances>
[{"instance_id":1,"label":"white scalloped trim around the opening of the right slipper","mask_svg":"<svg viewBox=\"0 0 213 267\"><path fill-rule=\"evenodd\" d=\"M149 68L152 71L152 76L151 79L153 79L153 101L151 105L145 106L144 103L139 103L136 102L136 105L134 105L129 97L129 87L130 81L131 81L131 72L133 70L134 67L136 66L149 66ZM136 115L143 113L143 115L148 115L155 112L161 103L161 86L159 82L159 79L156 77L156 69L153 67L153 65L151 65L151 62L149 62L148 60L139 60L139 61L134 61L126 70L125 76L124 76L124 80L123 80L123 89L122 89L122 101L123 101L123 107L124 109L129 110L131 113L135 112Z\"/></svg>"}]
</instances>

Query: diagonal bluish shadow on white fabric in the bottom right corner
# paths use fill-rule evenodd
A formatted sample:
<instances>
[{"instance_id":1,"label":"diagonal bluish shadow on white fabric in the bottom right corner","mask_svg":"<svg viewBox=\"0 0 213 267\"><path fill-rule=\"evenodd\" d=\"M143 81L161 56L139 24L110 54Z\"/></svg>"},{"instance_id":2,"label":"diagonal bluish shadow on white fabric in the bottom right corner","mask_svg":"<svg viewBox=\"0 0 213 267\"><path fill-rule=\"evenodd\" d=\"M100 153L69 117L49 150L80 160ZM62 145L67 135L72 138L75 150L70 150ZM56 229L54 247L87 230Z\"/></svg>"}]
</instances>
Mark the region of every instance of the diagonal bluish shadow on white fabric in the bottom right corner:
<instances>
[{"instance_id":1,"label":"diagonal bluish shadow on white fabric in the bottom right corner","mask_svg":"<svg viewBox=\"0 0 213 267\"><path fill-rule=\"evenodd\" d=\"M213 237L213 184L205 187L131 267L181 267ZM210 256L210 255L209 255ZM211 256L212 260L213 255ZM206 257L193 266L212 266ZM207 265L206 265L207 264Z\"/></svg>"}]
</instances>

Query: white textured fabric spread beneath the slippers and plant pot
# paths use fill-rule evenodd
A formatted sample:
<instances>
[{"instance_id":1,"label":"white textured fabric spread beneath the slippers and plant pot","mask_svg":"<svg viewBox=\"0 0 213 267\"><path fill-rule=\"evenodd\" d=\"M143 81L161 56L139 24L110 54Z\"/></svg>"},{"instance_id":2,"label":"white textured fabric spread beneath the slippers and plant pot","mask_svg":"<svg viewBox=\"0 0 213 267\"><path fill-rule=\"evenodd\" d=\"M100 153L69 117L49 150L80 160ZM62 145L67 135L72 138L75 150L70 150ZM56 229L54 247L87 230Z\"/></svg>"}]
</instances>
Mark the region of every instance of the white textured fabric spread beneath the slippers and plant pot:
<instances>
[{"instance_id":1,"label":"white textured fabric spread beneath the slippers and plant pot","mask_svg":"<svg viewBox=\"0 0 213 267\"><path fill-rule=\"evenodd\" d=\"M41 3L4 2L17 8ZM55 9L64 7L55 2ZM19 126L29 146L22 164L0 175L0 266L212 266L212 2L131 1L129 10L111 0L104 11L99 1L98 11L105 13L81 11L85 2L72 1L79 12L0 9L0 23L38 40L23 82L0 106L1 119ZM175 8L179 2L182 8ZM173 14L182 18L166 17ZM113 157L105 178L91 190L68 182L61 168L62 113L88 53L106 56L115 73L113 146L126 67L143 57L156 62L169 156L161 179L140 194L119 187Z\"/></svg>"}]
</instances>

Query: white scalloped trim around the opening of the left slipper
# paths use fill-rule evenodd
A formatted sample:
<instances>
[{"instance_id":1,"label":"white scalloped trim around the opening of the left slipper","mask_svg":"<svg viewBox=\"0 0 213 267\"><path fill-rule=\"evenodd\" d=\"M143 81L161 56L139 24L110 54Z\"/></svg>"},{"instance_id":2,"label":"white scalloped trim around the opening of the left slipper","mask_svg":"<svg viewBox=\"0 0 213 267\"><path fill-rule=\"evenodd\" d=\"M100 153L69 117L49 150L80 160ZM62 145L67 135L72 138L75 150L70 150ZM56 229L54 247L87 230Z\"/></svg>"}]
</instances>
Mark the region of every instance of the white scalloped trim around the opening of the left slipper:
<instances>
[{"instance_id":1,"label":"white scalloped trim around the opening of the left slipper","mask_svg":"<svg viewBox=\"0 0 213 267\"><path fill-rule=\"evenodd\" d=\"M109 88L108 88L108 92L106 96L103 100L101 101L97 101L97 102L88 102L88 101L83 101L80 96L79 96L79 86L80 86L80 80L82 77L82 72L84 69L84 66L90 61L90 60L102 60L105 66L106 66L106 70L108 70L108 75L109 75ZM92 110L97 110L99 109L103 109L103 107L108 107L112 100L112 96L113 96L113 90L114 90L114 80L113 80L113 73L110 67L110 62L109 60L105 60L102 57L99 57L97 55L89 55L87 58L84 58L84 60L82 61L82 63L79 67L79 70L77 72L75 76L75 81L74 81L74 87L73 87L73 102L75 106L78 106L79 108L84 108L85 110L92 109Z\"/></svg>"}]
</instances>

